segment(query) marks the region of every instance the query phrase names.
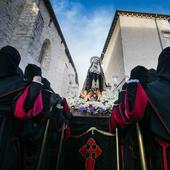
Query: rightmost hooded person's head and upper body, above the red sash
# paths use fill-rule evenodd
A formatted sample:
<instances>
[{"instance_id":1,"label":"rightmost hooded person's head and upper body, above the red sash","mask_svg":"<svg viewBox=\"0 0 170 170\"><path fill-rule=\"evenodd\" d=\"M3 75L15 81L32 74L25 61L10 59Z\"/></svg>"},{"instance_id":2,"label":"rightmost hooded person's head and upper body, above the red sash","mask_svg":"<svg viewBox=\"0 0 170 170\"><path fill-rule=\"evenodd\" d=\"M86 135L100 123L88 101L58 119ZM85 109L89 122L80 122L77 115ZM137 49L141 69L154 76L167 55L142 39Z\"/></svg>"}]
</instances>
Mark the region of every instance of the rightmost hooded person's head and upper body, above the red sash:
<instances>
[{"instance_id":1,"label":"rightmost hooded person's head and upper body, above the red sash","mask_svg":"<svg viewBox=\"0 0 170 170\"><path fill-rule=\"evenodd\" d=\"M158 80L147 87L155 111L151 117L151 128L156 135L170 141L170 47L159 56L157 75Z\"/></svg>"}]
</instances>

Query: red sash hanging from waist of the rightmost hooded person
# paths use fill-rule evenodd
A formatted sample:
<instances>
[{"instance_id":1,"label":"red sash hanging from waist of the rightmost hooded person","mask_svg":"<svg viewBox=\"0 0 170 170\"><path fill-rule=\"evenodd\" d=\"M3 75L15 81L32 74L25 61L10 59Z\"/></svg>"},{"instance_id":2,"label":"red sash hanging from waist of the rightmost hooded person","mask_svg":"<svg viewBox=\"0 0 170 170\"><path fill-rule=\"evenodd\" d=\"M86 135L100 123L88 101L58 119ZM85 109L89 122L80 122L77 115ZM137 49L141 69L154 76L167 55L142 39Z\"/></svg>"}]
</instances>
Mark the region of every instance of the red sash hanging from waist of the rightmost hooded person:
<instances>
[{"instance_id":1,"label":"red sash hanging from waist of the rightmost hooded person","mask_svg":"<svg viewBox=\"0 0 170 170\"><path fill-rule=\"evenodd\" d=\"M163 152L163 164L164 164L164 170L168 170L168 160L167 160L167 152L166 149L167 147L170 146L170 143L167 143L161 139L155 138L155 140L157 141L157 143L161 146L162 148L162 152Z\"/></svg>"}]
</instances>

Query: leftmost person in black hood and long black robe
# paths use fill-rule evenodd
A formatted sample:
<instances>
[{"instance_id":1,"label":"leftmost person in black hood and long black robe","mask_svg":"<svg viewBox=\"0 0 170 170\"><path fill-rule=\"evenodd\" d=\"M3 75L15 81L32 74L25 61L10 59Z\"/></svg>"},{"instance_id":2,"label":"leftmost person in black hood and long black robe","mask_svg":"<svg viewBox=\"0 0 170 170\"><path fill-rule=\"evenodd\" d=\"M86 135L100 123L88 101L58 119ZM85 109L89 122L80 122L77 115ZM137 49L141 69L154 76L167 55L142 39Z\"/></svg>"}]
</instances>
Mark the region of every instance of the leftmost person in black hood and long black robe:
<instances>
[{"instance_id":1,"label":"leftmost person in black hood and long black robe","mask_svg":"<svg viewBox=\"0 0 170 170\"><path fill-rule=\"evenodd\" d=\"M6 46L0 50L0 170L20 170L20 148L16 135L19 122L13 116L15 98L25 83L18 75L20 54Z\"/></svg>"}]
</instances>

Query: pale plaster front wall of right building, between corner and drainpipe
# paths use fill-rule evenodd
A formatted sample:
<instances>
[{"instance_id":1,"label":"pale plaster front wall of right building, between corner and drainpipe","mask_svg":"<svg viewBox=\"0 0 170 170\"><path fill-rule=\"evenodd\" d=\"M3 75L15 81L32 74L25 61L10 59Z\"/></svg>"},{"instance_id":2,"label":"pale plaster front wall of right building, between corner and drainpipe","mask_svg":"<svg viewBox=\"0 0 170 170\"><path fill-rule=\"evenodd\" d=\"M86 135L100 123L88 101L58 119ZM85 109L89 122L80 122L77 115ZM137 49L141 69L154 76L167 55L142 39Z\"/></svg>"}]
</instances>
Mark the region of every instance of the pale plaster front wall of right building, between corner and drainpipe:
<instances>
[{"instance_id":1,"label":"pale plaster front wall of right building, between corner and drainpipe","mask_svg":"<svg viewBox=\"0 0 170 170\"><path fill-rule=\"evenodd\" d=\"M161 52L154 19L120 16L125 75L133 67L156 68Z\"/></svg>"}]
</instances>

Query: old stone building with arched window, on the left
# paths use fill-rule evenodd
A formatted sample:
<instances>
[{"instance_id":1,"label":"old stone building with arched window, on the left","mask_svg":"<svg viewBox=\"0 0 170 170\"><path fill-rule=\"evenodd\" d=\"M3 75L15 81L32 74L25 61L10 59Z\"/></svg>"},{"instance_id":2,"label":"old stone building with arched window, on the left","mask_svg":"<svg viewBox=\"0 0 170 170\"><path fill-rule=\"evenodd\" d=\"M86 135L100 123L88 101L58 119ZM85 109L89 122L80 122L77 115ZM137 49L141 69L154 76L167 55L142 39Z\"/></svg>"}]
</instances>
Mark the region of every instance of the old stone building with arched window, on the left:
<instances>
[{"instance_id":1,"label":"old stone building with arched window, on the left","mask_svg":"<svg viewBox=\"0 0 170 170\"><path fill-rule=\"evenodd\" d=\"M0 1L0 40L0 48L19 50L22 69L28 63L41 66L57 93L78 93L77 71L50 0Z\"/></svg>"}]
</instances>

